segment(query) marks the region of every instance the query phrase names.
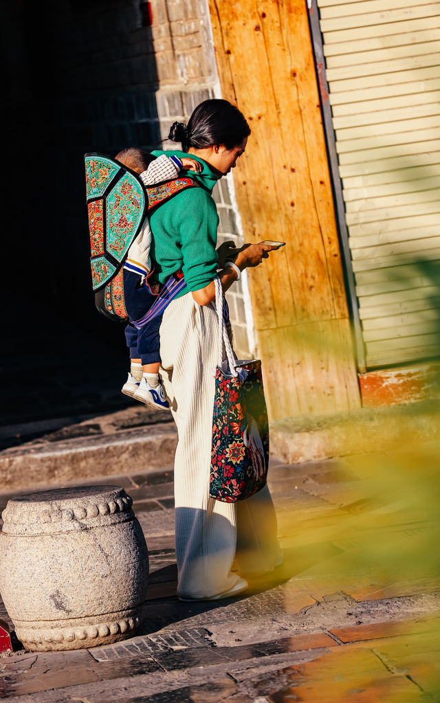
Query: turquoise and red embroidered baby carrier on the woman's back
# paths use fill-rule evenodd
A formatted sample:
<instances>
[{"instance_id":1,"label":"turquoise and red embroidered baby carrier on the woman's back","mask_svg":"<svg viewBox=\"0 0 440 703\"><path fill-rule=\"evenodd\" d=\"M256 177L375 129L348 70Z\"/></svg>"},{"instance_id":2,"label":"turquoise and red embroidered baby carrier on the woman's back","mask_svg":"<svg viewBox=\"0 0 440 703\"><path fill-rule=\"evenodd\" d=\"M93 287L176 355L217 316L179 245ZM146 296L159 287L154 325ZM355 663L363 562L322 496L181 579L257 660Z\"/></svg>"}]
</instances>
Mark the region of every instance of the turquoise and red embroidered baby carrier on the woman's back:
<instances>
[{"instance_id":1,"label":"turquoise and red embroidered baby carrier on the woman's back","mask_svg":"<svg viewBox=\"0 0 440 703\"><path fill-rule=\"evenodd\" d=\"M198 188L183 176L144 186L138 174L108 156L85 155L89 213L91 280L98 311L126 321L123 265L144 217L187 188ZM157 291L160 286L157 284Z\"/></svg>"}]
</instances>

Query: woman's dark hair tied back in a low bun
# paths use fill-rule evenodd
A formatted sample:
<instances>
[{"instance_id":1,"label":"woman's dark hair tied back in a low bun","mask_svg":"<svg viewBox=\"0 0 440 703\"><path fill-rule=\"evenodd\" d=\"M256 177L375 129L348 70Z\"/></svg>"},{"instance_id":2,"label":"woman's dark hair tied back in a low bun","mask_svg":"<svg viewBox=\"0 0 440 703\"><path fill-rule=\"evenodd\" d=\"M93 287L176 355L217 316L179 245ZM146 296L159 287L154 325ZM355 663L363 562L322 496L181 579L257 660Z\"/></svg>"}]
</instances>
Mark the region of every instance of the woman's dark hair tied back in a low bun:
<instances>
[{"instance_id":1,"label":"woman's dark hair tied back in a low bun","mask_svg":"<svg viewBox=\"0 0 440 703\"><path fill-rule=\"evenodd\" d=\"M216 144L232 149L249 135L249 124L235 105L227 100L205 100L195 108L188 125L172 124L168 138L180 141L183 151L188 151L191 146L204 149Z\"/></svg>"}]
</instances>

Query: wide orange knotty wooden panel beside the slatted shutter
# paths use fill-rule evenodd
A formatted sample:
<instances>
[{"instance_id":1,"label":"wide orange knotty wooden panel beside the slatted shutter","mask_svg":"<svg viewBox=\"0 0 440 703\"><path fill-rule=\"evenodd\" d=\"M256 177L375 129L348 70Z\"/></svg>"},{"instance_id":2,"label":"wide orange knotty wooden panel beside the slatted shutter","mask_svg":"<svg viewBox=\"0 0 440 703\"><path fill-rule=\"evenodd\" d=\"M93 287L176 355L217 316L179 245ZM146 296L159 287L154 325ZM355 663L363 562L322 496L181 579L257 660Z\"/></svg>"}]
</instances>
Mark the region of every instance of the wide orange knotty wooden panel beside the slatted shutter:
<instances>
[{"instance_id":1,"label":"wide orange knotty wooden panel beside the slatted shutter","mask_svg":"<svg viewBox=\"0 0 440 703\"><path fill-rule=\"evenodd\" d=\"M233 173L245 240L270 232L287 242L282 256L249 271L271 418L319 412L325 402L359 406L306 4L209 0L209 10L222 94L252 129ZM346 329L343 361L330 359L329 344L314 359L304 352L310 320L318 342L333 323Z\"/></svg>"}]
</instances>

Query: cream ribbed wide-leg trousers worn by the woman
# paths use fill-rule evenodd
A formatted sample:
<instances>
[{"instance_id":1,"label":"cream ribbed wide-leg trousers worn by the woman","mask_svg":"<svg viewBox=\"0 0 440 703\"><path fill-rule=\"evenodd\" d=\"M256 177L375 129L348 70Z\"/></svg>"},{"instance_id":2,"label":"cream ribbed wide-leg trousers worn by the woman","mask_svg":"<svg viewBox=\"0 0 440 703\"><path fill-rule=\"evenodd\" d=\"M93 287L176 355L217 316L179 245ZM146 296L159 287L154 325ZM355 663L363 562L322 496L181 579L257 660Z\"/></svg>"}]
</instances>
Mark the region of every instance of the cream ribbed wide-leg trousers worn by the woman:
<instances>
[{"instance_id":1,"label":"cream ribbed wide-leg trousers worn by the woman","mask_svg":"<svg viewBox=\"0 0 440 703\"><path fill-rule=\"evenodd\" d=\"M209 497L214 370L218 322L214 304L190 293L172 301L160 328L162 380L179 441L174 460L177 593L190 598L228 591L240 574L280 562L276 515L267 486L238 503Z\"/></svg>"}]
</instances>

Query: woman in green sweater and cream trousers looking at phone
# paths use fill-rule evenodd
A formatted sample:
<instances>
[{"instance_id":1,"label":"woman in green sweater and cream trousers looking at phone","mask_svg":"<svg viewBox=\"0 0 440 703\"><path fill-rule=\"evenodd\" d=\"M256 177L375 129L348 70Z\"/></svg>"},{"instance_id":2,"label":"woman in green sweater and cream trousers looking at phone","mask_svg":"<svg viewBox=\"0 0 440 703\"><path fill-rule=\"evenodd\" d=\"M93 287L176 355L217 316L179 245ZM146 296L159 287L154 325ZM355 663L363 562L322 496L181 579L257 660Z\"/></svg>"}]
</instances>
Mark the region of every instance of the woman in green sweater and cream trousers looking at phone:
<instances>
[{"instance_id":1,"label":"woman in green sweater and cream trousers looking at phone","mask_svg":"<svg viewBox=\"0 0 440 703\"><path fill-rule=\"evenodd\" d=\"M153 259L161 283L183 270L187 288L164 312L160 328L162 379L176 421L179 442L174 464L177 593L181 600L215 600L245 591L238 574L265 572L280 563L276 516L267 487L239 503L209 498L213 369L218 354L214 278L226 291L247 266L258 266L276 247L248 245L235 266L217 273L219 217L211 191L245 152L249 125L224 100L198 105L186 127L174 122L169 138L200 162L192 176L200 184L153 212ZM162 152L154 152L155 156ZM167 152L169 154L169 152ZM233 561L238 573L232 572Z\"/></svg>"}]
</instances>

